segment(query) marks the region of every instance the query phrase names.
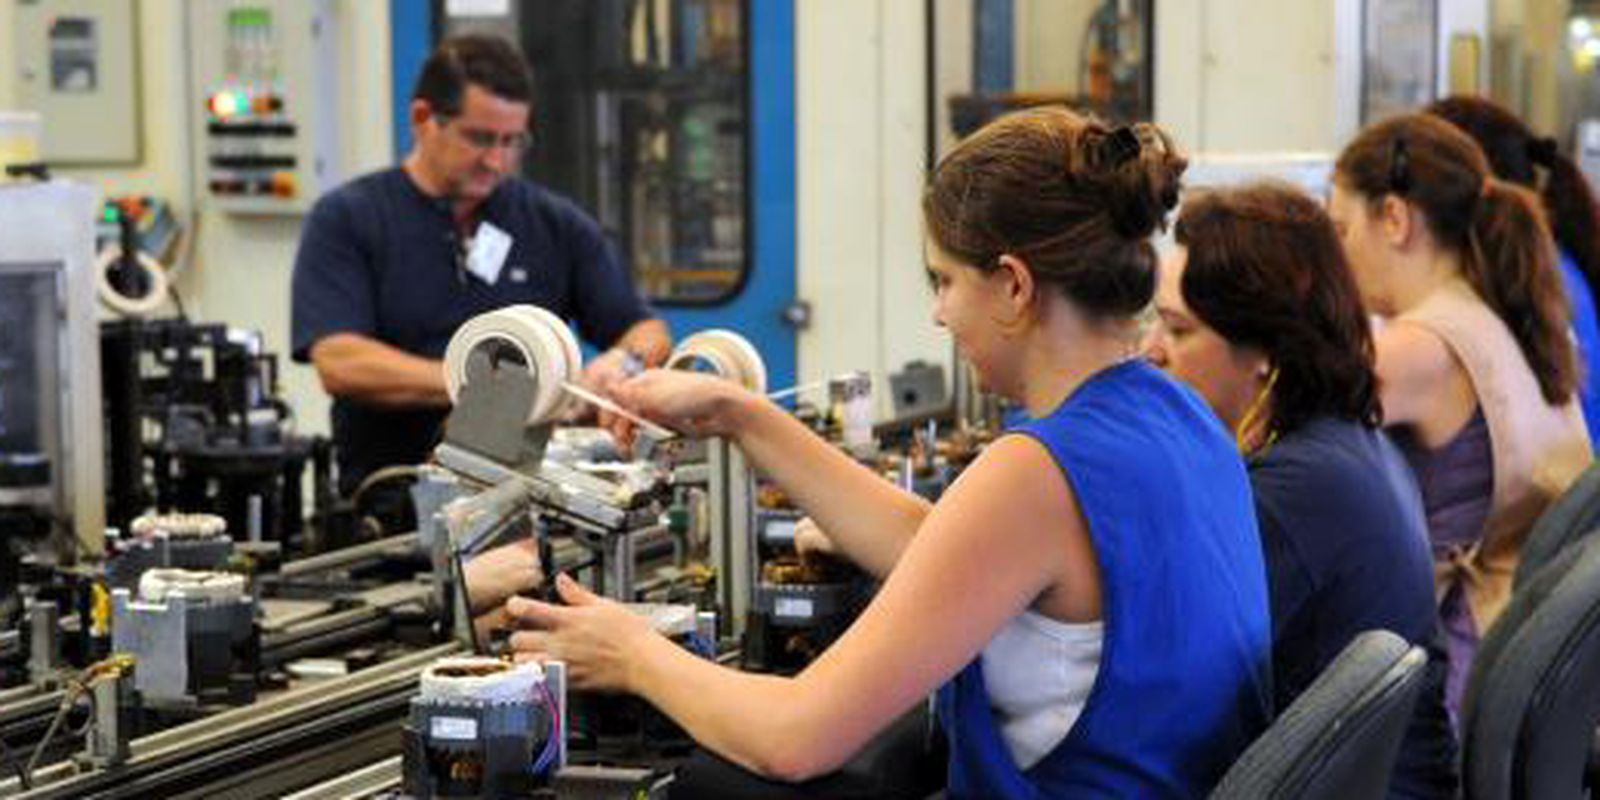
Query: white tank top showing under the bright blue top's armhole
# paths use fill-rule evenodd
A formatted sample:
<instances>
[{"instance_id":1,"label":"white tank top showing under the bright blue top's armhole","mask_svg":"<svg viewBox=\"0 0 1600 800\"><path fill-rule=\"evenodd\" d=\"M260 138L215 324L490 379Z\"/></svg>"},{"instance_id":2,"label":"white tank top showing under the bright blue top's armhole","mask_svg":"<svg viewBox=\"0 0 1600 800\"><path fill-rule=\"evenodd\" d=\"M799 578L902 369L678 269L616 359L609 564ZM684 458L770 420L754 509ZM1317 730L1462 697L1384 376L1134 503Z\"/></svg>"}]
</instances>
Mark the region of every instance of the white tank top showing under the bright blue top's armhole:
<instances>
[{"instance_id":1,"label":"white tank top showing under the bright blue top's armhole","mask_svg":"<svg viewBox=\"0 0 1600 800\"><path fill-rule=\"evenodd\" d=\"M1099 672L1104 622L1061 622L1037 611L1013 618L982 651L984 685L1018 768L1066 739Z\"/></svg>"}]
</instances>

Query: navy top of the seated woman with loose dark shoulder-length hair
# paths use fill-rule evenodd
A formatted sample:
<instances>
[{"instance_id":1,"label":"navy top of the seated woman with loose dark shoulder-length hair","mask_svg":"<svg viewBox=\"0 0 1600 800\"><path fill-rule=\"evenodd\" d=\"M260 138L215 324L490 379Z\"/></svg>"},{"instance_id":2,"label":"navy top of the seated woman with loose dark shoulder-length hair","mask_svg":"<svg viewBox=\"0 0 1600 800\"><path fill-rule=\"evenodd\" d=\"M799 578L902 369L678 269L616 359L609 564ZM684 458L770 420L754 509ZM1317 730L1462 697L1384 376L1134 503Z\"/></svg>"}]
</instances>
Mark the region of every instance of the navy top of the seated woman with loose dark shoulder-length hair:
<instances>
[{"instance_id":1,"label":"navy top of the seated woman with loose dark shoulder-length hair","mask_svg":"<svg viewBox=\"0 0 1600 800\"><path fill-rule=\"evenodd\" d=\"M1454 797L1456 739L1434 605L1427 520L1400 451L1358 422L1317 418L1250 464L1272 592L1282 712L1363 630L1430 648L1392 797Z\"/></svg>"}]
</instances>

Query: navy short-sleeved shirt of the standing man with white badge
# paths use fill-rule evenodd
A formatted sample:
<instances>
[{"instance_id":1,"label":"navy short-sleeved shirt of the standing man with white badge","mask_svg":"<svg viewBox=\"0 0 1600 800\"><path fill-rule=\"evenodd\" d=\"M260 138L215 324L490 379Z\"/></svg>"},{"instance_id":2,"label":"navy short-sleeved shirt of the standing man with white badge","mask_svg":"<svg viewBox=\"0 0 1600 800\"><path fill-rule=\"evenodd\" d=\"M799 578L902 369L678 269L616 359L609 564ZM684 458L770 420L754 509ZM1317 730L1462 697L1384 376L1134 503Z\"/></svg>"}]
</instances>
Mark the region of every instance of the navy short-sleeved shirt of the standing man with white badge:
<instances>
[{"instance_id":1,"label":"navy short-sleeved shirt of the standing man with white badge","mask_svg":"<svg viewBox=\"0 0 1600 800\"><path fill-rule=\"evenodd\" d=\"M504 306L531 302L611 346L650 309L587 214L530 181L506 179L485 200L483 222L512 237L488 285L458 267L450 203L422 194L403 170L371 173L323 195L294 256L293 354L333 333L358 333L442 358L456 328ZM438 438L443 410L387 410L333 400L339 483L349 491L387 464L416 464Z\"/></svg>"}]
</instances>

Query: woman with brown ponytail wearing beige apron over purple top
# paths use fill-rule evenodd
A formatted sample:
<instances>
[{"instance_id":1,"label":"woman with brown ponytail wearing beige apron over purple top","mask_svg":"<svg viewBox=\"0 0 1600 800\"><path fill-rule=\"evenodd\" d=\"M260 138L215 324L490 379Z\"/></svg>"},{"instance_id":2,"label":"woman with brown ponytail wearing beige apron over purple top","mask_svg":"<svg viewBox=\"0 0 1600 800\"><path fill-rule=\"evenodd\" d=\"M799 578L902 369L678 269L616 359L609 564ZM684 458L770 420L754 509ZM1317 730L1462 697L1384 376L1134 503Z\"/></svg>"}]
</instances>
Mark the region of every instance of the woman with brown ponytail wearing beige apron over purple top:
<instances>
[{"instance_id":1,"label":"woman with brown ponytail wearing beige apron over purple top","mask_svg":"<svg viewBox=\"0 0 1600 800\"><path fill-rule=\"evenodd\" d=\"M1539 512L1590 461L1566 296L1538 198L1448 122L1365 128L1328 203L1376 338L1384 422L1416 472L1459 709Z\"/></svg>"}]
</instances>

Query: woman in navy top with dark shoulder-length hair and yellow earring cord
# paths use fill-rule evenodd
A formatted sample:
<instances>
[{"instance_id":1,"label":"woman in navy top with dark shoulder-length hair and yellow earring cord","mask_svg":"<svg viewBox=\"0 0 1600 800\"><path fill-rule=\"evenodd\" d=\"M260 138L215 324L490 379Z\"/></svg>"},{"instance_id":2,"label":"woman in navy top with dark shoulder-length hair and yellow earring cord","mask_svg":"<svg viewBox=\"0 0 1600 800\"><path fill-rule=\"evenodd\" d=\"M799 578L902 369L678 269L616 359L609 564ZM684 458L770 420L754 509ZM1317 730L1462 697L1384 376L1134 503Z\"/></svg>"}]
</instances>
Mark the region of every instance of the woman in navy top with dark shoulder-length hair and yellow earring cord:
<instances>
[{"instance_id":1,"label":"woman in navy top with dark shoulder-length hair and yellow earring cord","mask_svg":"<svg viewBox=\"0 0 1600 800\"><path fill-rule=\"evenodd\" d=\"M1192 195L1162 264L1152 358L1192 384L1250 456L1282 712L1350 640L1434 646L1392 797L1453 797L1427 520L1378 430L1373 338L1333 222L1288 186Z\"/></svg>"}]
</instances>

